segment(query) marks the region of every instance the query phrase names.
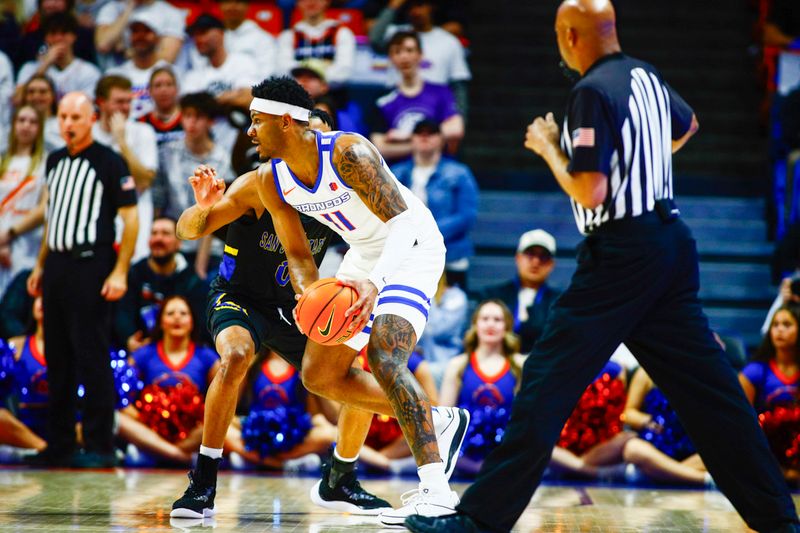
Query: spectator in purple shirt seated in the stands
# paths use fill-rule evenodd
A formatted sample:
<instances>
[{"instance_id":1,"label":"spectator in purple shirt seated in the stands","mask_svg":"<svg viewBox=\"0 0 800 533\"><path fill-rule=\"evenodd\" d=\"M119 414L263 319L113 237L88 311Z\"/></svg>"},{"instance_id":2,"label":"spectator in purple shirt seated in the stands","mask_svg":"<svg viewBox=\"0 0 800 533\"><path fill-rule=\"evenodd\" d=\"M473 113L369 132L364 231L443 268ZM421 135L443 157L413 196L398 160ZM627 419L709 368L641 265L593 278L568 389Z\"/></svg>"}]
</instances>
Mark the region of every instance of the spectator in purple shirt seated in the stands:
<instances>
[{"instance_id":1,"label":"spectator in purple shirt seated in the stands","mask_svg":"<svg viewBox=\"0 0 800 533\"><path fill-rule=\"evenodd\" d=\"M464 118L446 85L422 79L422 46L414 32L397 32L389 41L389 60L400 73L400 83L376 102L370 140L390 160L411 155L411 133L421 120L441 125L448 153L455 153L464 137Z\"/></svg>"}]
</instances>

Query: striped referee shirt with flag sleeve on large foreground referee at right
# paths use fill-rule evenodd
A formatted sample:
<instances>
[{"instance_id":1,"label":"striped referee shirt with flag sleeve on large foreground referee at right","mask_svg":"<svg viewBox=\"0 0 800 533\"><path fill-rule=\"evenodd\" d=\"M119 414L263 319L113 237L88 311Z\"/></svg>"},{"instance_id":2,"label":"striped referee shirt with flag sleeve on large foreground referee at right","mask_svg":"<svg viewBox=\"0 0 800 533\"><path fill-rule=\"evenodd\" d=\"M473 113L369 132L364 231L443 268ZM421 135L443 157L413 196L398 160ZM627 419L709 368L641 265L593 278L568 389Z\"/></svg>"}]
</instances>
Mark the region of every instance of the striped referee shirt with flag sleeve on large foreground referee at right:
<instances>
[{"instance_id":1,"label":"striped referee shirt with flag sleeve on large foreground referee at right","mask_svg":"<svg viewBox=\"0 0 800 533\"><path fill-rule=\"evenodd\" d=\"M691 126L692 109L651 65L622 53L597 61L570 93L561 148L570 172L602 172L605 201L572 199L581 233L653 211L672 198L672 140Z\"/></svg>"}]
</instances>

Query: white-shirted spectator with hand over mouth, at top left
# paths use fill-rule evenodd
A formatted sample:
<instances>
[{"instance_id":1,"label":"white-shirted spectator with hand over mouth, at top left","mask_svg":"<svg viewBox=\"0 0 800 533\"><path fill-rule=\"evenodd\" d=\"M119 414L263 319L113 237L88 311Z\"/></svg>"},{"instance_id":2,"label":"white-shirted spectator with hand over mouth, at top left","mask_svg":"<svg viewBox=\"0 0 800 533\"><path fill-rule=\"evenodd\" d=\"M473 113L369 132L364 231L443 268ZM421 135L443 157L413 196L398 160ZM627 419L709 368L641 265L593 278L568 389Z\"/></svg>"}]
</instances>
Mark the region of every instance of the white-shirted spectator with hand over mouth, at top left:
<instances>
[{"instance_id":1,"label":"white-shirted spectator with hand over mouth, at top left","mask_svg":"<svg viewBox=\"0 0 800 533\"><path fill-rule=\"evenodd\" d=\"M22 89L35 74L46 74L56 86L57 97L68 92L82 92L94 96L100 79L100 70L78 57L73 46L78 31L78 21L69 13L55 13L42 20L42 31L47 51L37 61L22 65L17 78L16 100L21 101Z\"/></svg>"}]
</instances>

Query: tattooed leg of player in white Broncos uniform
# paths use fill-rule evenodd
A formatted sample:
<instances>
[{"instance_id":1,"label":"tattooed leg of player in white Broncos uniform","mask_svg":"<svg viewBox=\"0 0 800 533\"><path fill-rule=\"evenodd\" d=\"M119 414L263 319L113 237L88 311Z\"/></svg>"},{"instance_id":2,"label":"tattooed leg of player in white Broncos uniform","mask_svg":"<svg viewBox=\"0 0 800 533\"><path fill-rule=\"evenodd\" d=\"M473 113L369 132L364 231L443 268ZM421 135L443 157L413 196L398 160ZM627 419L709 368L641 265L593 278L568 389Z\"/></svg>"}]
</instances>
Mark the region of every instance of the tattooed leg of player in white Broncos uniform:
<instances>
[{"instance_id":1,"label":"tattooed leg of player in white Broncos uniform","mask_svg":"<svg viewBox=\"0 0 800 533\"><path fill-rule=\"evenodd\" d=\"M380 315L372 323L367 357L372 373L392 404L417 465L422 466L442 459L430 400L408 369L408 358L416 343L417 335L406 319Z\"/></svg>"}]
</instances>

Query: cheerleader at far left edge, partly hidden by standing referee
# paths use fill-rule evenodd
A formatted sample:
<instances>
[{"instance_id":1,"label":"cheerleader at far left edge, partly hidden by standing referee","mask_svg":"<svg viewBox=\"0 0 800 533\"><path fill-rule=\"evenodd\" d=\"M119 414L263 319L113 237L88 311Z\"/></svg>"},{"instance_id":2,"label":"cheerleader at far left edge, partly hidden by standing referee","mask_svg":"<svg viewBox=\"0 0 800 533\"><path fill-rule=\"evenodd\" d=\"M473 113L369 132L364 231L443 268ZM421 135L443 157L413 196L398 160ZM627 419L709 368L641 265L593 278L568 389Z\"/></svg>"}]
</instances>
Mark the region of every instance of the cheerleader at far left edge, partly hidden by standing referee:
<instances>
[{"instance_id":1,"label":"cheerleader at far left edge, partly hidden by standing referee","mask_svg":"<svg viewBox=\"0 0 800 533\"><path fill-rule=\"evenodd\" d=\"M44 359L42 298L33 302L33 333L15 337L14 385L16 416L0 409L0 444L43 451L47 448L47 363Z\"/></svg>"}]
</instances>

